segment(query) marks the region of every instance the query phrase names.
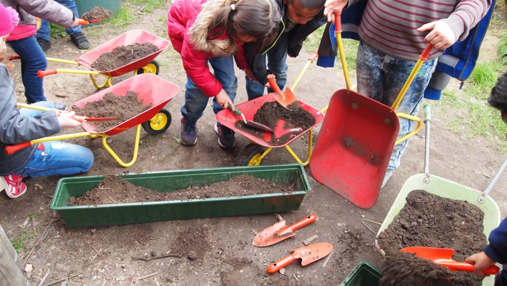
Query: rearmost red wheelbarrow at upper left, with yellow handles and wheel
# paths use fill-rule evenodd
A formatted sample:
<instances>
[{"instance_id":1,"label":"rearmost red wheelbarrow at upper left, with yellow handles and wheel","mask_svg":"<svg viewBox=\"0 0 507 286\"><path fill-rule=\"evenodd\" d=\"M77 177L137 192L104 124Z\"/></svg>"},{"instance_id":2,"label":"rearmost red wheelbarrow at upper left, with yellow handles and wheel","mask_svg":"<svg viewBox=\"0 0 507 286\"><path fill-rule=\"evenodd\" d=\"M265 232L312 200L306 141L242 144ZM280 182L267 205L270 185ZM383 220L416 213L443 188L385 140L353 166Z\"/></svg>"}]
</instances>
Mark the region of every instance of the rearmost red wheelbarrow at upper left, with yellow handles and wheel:
<instances>
[{"instance_id":1,"label":"rearmost red wheelbarrow at upper left, with yellow handles and wheel","mask_svg":"<svg viewBox=\"0 0 507 286\"><path fill-rule=\"evenodd\" d=\"M130 44L153 44L159 48L158 51L155 51L147 56L144 56L140 59L127 63L126 65L119 67L112 71L97 71L93 69L92 63L97 60L97 58L106 52L112 52L116 47L126 46ZM130 30L126 33L113 38L102 45L82 54L78 57L77 61L58 59L48 57L48 61L61 62L61 63L69 63L71 65L80 65L85 68L90 69L91 71L82 71L82 70L65 70L65 69L48 69L46 71L39 71L37 75L39 77L45 77L47 75L57 74L57 73L72 73L72 74L88 74L90 75L90 79L92 80L93 85L100 89L105 87L106 85L112 86L113 83L111 79L116 76L120 76L129 72L134 72L134 75L150 73L150 74L159 74L159 65L158 62L154 59L159 55L163 50L169 47L169 41L164 38L161 38L157 35L151 34L144 30ZM16 59L17 57L11 57L11 59ZM105 76L106 80L103 84L98 85L95 81L94 75Z\"/></svg>"}]
</instances>

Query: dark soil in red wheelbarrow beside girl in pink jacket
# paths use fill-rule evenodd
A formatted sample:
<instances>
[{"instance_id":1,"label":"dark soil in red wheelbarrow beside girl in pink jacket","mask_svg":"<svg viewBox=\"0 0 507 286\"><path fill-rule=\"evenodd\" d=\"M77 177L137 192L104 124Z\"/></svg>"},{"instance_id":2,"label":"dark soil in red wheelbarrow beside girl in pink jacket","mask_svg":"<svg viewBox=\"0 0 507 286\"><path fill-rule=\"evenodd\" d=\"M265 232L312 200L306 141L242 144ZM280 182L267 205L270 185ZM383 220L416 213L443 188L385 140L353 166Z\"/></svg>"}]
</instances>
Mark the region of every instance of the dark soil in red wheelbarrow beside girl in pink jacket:
<instances>
[{"instance_id":1,"label":"dark soil in red wheelbarrow beside girl in pink jacket","mask_svg":"<svg viewBox=\"0 0 507 286\"><path fill-rule=\"evenodd\" d=\"M287 108L283 107L277 101L266 102L253 116L253 121L266 125L272 130L275 130L280 120L285 122L283 125L284 129L294 131L288 132L280 137L276 137L273 133L271 135L271 141L276 146L284 145L288 141L291 141L294 137L315 125L315 117L313 117L313 115L305 109L301 108L299 106L299 102L297 101L288 105ZM242 120L236 121L235 127L239 130L264 139L264 133L262 131L246 126Z\"/></svg>"}]
</instances>

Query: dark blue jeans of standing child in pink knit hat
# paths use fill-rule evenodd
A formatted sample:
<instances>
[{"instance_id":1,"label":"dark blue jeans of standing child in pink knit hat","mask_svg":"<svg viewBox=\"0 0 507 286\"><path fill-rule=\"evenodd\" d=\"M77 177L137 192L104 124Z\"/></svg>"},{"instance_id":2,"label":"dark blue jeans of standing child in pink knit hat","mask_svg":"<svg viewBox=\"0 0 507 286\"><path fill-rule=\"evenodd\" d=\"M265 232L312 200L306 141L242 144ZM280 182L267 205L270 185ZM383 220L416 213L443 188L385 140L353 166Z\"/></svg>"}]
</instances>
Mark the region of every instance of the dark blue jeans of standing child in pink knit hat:
<instances>
[{"instance_id":1,"label":"dark blue jeans of standing child in pink knit hat","mask_svg":"<svg viewBox=\"0 0 507 286\"><path fill-rule=\"evenodd\" d=\"M26 102L46 101L42 78L37 76L37 72L46 70L48 61L35 38L30 36L16 41L8 41L7 44L21 59L21 80L25 87Z\"/></svg>"}]
</instances>

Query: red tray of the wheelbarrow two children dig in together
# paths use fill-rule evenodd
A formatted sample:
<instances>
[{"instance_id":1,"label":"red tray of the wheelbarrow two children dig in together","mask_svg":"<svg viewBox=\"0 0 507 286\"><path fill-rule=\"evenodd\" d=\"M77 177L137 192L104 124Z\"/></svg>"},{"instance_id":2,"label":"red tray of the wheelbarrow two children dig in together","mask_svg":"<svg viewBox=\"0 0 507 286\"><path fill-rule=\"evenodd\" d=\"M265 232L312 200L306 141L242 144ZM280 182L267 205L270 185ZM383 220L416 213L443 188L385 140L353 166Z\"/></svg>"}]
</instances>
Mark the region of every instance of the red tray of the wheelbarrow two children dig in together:
<instances>
[{"instance_id":1,"label":"red tray of the wheelbarrow two children dig in together","mask_svg":"<svg viewBox=\"0 0 507 286\"><path fill-rule=\"evenodd\" d=\"M275 102L276 99L273 97L274 93L268 93L265 96L237 104L236 107L243 112L243 115L245 116L246 120L253 120L253 116L257 113L257 111L266 103L266 102ZM315 124L312 125L307 130L301 131L298 135L294 136L289 140L288 142L284 144L276 144L276 142L272 141L272 133L258 130L259 136L256 136L254 134L248 133L246 131L240 130L236 128L236 121L242 121L241 116L236 115L234 112L224 109L220 111L218 114L216 114L216 120L219 121L221 124L227 126L228 128L234 130L236 133L239 133L243 135L244 137L248 138L249 140L265 147L282 147L287 144L290 144L294 140L298 139L300 136L308 132L310 129L312 129L314 126L318 125L322 120L324 120L324 114L320 112L319 110L305 104L304 102L298 101L299 106L309 112L314 118L315 118ZM274 135L275 138L280 138L281 136L291 133L291 130L283 129L283 124L278 124L277 127L274 129Z\"/></svg>"}]
</instances>

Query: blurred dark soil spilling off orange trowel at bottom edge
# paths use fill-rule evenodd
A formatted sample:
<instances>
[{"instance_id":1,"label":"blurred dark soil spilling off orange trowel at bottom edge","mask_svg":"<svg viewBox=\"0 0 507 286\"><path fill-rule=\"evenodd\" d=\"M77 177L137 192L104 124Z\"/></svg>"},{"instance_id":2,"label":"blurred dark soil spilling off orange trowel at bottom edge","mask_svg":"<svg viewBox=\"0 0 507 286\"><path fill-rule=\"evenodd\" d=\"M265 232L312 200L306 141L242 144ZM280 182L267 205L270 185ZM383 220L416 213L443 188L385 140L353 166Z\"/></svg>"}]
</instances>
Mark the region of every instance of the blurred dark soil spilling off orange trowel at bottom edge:
<instances>
[{"instance_id":1,"label":"blurred dark soil spilling off orange trowel at bottom edge","mask_svg":"<svg viewBox=\"0 0 507 286\"><path fill-rule=\"evenodd\" d=\"M447 267L399 250L386 251L381 271L379 286L454 285Z\"/></svg>"}]
</instances>

